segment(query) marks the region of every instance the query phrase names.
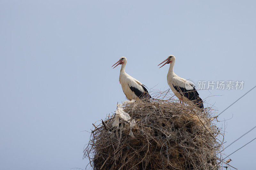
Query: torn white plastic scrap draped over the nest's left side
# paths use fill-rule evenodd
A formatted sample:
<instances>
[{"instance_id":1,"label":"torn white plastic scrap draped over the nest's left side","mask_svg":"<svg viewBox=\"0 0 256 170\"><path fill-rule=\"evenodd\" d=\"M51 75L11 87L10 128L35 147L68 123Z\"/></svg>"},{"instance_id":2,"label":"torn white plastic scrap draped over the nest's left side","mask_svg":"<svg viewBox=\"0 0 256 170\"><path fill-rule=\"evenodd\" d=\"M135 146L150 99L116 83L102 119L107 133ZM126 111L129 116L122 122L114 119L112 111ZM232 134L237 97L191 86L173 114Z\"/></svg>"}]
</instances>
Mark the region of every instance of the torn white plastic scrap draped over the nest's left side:
<instances>
[{"instance_id":1,"label":"torn white plastic scrap draped over the nest's left side","mask_svg":"<svg viewBox=\"0 0 256 170\"><path fill-rule=\"evenodd\" d=\"M132 103L132 102L135 102L135 100L132 100L132 101L124 101L123 104L128 104L128 103ZM131 121L131 117L128 113L126 113L123 109L123 104L117 104L117 110L116 110L116 116L114 118L114 122L112 124L112 126L114 127L119 127L119 117L124 119L125 121L127 121L128 123L130 123L130 135L132 136L132 138L134 138L134 135L132 133L132 127L135 126L135 120L132 119Z\"/></svg>"}]
</instances>

